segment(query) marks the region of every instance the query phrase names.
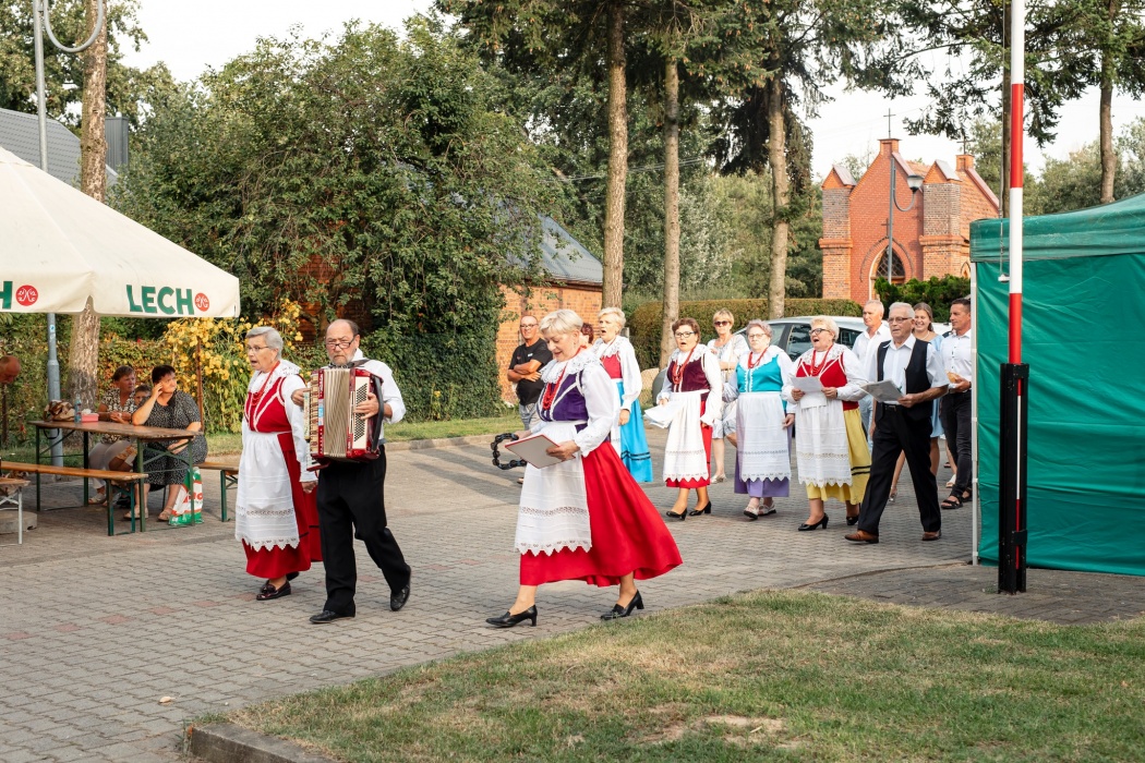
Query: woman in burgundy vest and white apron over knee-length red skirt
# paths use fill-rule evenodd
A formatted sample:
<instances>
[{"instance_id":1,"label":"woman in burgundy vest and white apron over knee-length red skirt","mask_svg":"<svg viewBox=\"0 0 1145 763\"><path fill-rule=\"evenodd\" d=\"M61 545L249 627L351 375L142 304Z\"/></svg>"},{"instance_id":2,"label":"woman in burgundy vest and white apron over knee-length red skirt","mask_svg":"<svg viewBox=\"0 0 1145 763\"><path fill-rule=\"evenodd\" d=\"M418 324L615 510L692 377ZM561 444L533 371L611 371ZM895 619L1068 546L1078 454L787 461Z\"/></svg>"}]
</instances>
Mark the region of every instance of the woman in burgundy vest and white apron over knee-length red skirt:
<instances>
[{"instance_id":1,"label":"woman in burgundy vest and white apron over knee-length red skirt","mask_svg":"<svg viewBox=\"0 0 1145 763\"><path fill-rule=\"evenodd\" d=\"M668 430L664 482L680 492L664 515L682 522L689 516L712 512L712 502L708 499L712 427L722 414L724 377L716 353L700 343L700 324L695 319L680 318L672 324L672 334L676 350L656 402L679 404ZM693 490L696 491L696 508L688 511L688 492Z\"/></svg>"}]
</instances>

